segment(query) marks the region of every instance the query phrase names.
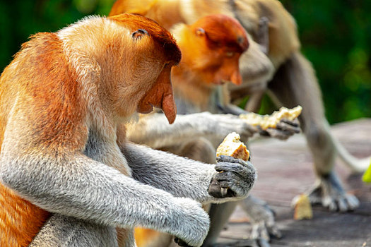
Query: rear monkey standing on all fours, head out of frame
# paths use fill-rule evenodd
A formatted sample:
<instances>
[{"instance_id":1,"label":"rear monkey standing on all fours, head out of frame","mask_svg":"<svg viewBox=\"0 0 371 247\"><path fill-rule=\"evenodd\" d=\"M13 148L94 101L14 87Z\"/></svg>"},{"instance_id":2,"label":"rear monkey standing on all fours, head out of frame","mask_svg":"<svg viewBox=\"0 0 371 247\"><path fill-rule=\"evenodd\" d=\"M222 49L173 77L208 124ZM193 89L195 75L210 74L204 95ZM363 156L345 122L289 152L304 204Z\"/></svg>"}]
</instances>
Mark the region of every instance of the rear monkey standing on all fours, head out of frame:
<instances>
[{"instance_id":1,"label":"rear monkey standing on all fours, head out of frame","mask_svg":"<svg viewBox=\"0 0 371 247\"><path fill-rule=\"evenodd\" d=\"M314 188L307 192L310 200L341 212L358 207L357 198L343 190L334 173L334 159L339 155L353 171L365 170L369 159L355 159L329 132L317 78L312 65L300 52L295 20L279 1L118 0L111 13L117 12L139 13L165 28L176 23L194 23L213 13L239 20L249 33L250 47L240 59L242 85L230 84L232 100L251 95L247 110L256 110L261 96L268 92L277 105L302 105L299 120L313 154L317 175ZM264 27L261 23L264 22L267 22L269 34L266 37L261 36L261 27ZM259 55L254 48L261 48Z\"/></svg>"}]
</instances>

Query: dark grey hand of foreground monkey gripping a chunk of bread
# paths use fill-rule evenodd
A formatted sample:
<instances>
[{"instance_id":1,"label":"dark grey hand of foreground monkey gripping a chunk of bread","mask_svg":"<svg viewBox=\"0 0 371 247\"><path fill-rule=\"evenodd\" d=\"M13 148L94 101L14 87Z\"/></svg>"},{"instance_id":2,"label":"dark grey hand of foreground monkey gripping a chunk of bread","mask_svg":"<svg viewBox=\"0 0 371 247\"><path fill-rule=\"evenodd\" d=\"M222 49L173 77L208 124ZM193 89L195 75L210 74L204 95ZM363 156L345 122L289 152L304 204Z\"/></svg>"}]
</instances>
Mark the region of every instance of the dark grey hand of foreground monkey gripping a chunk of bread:
<instances>
[{"instance_id":1,"label":"dark grey hand of foreground monkey gripping a chunk of bread","mask_svg":"<svg viewBox=\"0 0 371 247\"><path fill-rule=\"evenodd\" d=\"M225 155L216 157L216 161L218 173L211 179L208 193L214 198L246 198L257 179L252 164Z\"/></svg>"}]
</instances>

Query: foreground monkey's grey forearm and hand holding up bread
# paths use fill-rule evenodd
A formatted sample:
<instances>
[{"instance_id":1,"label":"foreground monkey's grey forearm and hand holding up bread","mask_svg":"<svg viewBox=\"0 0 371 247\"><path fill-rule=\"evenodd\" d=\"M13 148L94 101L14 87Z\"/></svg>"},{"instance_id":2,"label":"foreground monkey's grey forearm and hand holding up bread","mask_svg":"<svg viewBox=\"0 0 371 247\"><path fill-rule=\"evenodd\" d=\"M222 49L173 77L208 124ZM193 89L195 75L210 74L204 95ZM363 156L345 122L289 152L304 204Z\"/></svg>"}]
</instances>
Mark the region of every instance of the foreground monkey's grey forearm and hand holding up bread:
<instances>
[{"instance_id":1,"label":"foreground monkey's grey forearm and hand holding up bread","mask_svg":"<svg viewBox=\"0 0 371 247\"><path fill-rule=\"evenodd\" d=\"M126 143L122 152L134 179L203 204L245 198L256 179L252 164L238 159L220 160L216 165L204 164L133 143ZM220 185L230 188L230 194L218 194L221 192Z\"/></svg>"}]
</instances>

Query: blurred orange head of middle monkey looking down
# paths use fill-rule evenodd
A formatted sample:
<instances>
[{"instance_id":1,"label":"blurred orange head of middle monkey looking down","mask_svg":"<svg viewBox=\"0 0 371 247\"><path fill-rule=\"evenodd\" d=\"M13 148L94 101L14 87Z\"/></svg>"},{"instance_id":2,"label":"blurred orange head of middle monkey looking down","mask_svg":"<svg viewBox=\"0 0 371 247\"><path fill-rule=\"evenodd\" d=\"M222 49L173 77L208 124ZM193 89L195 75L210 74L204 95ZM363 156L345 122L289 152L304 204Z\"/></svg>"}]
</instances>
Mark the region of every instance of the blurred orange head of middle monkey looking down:
<instances>
[{"instance_id":1,"label":"blurred orange head of middle monkey looking down","mask_svg":"<svg viewBox=\"0 0 371 247\"><path fill-rule=\"evenodd\" d=\"M239 59L249 42L237 20L223 15L206 16L190 25L181 39L186 40L179 43L182 61L203 83L209 86L242 83Z\"/></svg>"}]
</instances>

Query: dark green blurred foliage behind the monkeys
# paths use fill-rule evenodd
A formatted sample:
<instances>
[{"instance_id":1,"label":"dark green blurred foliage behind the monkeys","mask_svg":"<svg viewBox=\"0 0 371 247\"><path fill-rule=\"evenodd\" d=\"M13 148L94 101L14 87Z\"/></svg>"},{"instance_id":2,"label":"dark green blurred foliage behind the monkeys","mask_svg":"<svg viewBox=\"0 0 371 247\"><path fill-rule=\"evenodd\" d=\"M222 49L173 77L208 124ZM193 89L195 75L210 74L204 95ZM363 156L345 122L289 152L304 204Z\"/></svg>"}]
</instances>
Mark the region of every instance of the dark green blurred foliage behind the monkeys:
<instances>
[{"instance_id":1,"label":"dark green blurred foliage behind the monkeys","mask_svg":"<svg viewBox=\"0 0 371 247\"><path fill-rule=\"evenodd\" d=\"M138 0L140 1L140 0ZM371 116L371 1L281 0L299 26L330 123ZM36 32L54 32L91 14L107 15L114 0L0 1L0 70ZM264 99L261 113L273 110Z\"/></svg>"}]
</instances>

